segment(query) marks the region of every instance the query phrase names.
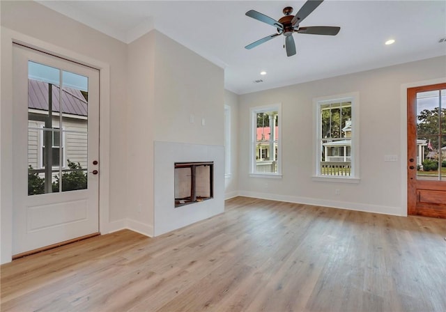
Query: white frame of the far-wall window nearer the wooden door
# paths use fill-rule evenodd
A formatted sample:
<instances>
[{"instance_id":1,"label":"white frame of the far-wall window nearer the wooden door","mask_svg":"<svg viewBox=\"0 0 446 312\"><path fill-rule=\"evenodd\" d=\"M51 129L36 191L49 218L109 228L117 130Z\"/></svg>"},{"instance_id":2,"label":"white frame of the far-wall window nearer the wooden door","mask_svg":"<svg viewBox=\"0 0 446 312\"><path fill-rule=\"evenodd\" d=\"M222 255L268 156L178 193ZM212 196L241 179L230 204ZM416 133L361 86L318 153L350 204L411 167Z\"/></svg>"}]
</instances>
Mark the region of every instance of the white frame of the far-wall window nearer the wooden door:
<instances>
[{"instance_id":1,"label":"white frame of the far-wall window nearer the wooden door","mask_svg":"<svg viewBox=\"0 0 446 312\"><path fill-rule=\"evenodd\" d=\"M351 102L351 176L321 175L321 105L337 102ZM321 182L360 182L360 94L359 92L332 95L313 99L314 120L314 176L312 180Z\"/></svg>"}]
</instances>

